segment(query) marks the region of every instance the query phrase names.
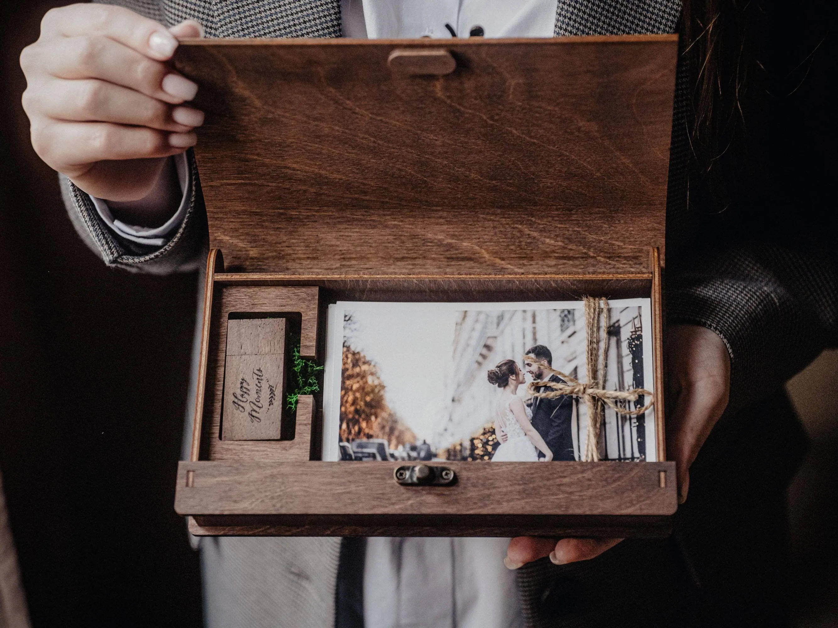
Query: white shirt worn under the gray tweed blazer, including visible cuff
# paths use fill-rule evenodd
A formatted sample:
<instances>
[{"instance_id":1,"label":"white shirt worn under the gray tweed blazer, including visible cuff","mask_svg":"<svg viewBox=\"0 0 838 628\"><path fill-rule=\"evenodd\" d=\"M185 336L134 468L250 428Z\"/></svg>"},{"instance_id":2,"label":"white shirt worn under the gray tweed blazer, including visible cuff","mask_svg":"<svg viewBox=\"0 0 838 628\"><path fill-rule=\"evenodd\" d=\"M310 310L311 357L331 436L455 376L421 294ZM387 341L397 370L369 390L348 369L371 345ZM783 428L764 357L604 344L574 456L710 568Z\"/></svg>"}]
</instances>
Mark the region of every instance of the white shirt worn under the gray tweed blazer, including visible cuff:
<instances>
[{"instance_id":1,"label":"white shirt worn under the gray tweed blazer, including visible cuff","mask_svg":"<svg viewBox=\"0 0 838 628\"><path fill-rule=\"evenodd\" d=\"M557 0L341 0L344 37L451 38L475 27L485 37L552 37ZM162 227L124 224L93 198L123 238L162 246L184 219L191 195L184 155L175 157L184 198ZM361 463L363 464L363 463ZM475 463L491 464L491 463ZM503 564L506 538L370 538L364 569L365 628L520 628L515 573Z\"/></svg>"}]
</instances>

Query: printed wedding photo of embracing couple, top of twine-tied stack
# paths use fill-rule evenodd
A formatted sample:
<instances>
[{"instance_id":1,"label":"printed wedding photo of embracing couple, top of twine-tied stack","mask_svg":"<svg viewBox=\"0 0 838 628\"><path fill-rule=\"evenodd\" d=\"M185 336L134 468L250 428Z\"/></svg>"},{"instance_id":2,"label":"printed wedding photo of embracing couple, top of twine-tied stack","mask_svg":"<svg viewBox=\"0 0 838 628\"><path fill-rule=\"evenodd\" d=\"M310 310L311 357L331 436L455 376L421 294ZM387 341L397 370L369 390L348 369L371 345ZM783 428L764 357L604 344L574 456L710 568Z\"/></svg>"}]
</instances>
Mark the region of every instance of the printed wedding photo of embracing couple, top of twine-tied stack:
<instances>
[{"instance_id":1,"label":"printed wedding photo of embracing couple, top of twine-tied stack","mask_svg":"<svg viewBox=\"0 0 838 628\"><path fill-rule=\"evenodd\" d=\"M603 388L651 392L649 300L608 309ZM617 411L643 396L604 410L592 458L585 400L551 388L585 381L582 301L342 301L327 330L325 461L655 460L654 407Z\"/></svg>"}]
</instances>

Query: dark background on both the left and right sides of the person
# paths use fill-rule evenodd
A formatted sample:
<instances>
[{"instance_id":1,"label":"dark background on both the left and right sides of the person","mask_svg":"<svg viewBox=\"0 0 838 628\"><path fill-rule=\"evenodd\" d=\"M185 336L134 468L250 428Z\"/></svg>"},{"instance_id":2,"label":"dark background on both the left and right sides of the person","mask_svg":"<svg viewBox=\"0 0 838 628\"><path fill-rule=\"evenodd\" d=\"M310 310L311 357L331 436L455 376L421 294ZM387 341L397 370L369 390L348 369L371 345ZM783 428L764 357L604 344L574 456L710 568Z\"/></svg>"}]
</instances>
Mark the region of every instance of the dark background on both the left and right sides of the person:
<instances>
[{"instance_id":1,"label":"dark background on both the left and right sides of the person","mask_svg":"<svg viewBox=\"0 0 838 628\"><path fill-rule=\"evenodd\" d=\"M199 626L198 554L173 512L196 277L106 268L29 145L18 54L60 4L0 3L0 471L23 584L38 628ZM822 16L790 10L779 24L811 34L777 38L794 94L773 124L781 192L834 215L838 55ZM790 386L812 443L789 492L800 626L838 622L836 387L838 353Z\"/></svg>"}]
</instances>

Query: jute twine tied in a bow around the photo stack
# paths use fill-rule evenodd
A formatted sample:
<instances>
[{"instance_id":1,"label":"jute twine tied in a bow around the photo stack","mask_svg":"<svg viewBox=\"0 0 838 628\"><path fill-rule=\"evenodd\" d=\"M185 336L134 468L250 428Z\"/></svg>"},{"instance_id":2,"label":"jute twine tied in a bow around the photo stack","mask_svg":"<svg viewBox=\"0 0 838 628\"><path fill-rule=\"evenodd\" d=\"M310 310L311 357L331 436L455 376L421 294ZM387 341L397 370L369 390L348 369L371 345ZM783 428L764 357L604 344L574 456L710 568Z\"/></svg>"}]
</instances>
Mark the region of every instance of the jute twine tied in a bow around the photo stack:
<instances>
[{"instance_id":1,"label":"jute twine tied in a bow around the photo stack","mask_svg":"<svg viewBox=\"0 0 838 628\"><path fill-rule=\"evenodd\" d=\"M613 409L618 414L628 416L636 416L643 414L654 405L654 398L649 390L646 389L632 389L632 390L605 390L605 375L608 368L608 340L606 334L608 333L608 299L595 299L591 296L584 297L585 304L585 374L587 383L578 382L576 378L570 375L556 371L544 361L535 358L534 355L525 355L524 359L528 362L540 364L541 368L550 373L558 375L564 379L566 383L558 383L551 381L530 382L527 384L527 392L533 397L541 397L544 399L556 399L562 395L572 395L574 397L582 397L585 399L585 407L587 409L587 431L585 453L582 460L584 461L598 461L599 460L599 432L605 420L605 406ZM546 387L551 390L546 390L543 393L537 392L537 389ZM644 394L649 399L649 402L642 408L628 409L618 406L616 401L637 401L639 396ZM628 405L628 404L627 404Z\"/></svg>"}]
</instances>

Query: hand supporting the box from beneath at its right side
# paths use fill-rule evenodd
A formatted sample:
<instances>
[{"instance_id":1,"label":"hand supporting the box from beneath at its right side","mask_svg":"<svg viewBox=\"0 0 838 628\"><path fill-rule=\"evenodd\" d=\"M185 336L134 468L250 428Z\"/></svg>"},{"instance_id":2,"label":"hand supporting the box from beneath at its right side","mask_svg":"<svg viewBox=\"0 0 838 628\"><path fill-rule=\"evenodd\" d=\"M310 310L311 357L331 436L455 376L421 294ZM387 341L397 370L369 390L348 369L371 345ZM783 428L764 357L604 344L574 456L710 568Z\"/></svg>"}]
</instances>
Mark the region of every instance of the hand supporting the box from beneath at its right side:
<instances>
[{"instance_id":1,"label":"hand supporting the box from beneath at its right side","mask_svg":"<svg viewBox=\"0 0 838 628\"><path fill-rule=\"evenodd\" d=\"M666 334L667 453L675 461L678 501L690 489L690 466L716 421L727 408L730 394L730 355L716 332L696 325L671 325ZM510 569L550 556L555 564L593 559L621 538L531 538L510 541L504 564Z\"/></svg>"}]
</instances>

